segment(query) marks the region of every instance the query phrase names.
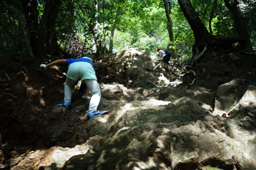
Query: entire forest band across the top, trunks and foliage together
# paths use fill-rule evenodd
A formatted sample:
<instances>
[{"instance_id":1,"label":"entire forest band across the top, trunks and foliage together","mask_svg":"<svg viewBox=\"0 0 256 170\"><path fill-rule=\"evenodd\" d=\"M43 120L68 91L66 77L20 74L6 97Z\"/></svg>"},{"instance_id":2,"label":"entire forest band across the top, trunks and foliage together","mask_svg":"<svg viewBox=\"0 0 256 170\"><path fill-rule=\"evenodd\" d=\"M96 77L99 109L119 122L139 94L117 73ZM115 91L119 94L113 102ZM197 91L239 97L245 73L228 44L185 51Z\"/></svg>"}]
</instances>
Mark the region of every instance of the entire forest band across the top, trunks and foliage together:
<instances>
[{"instance_id":1,"label":"entire forest band across the top, trunks and foliage together","mask_svg":"<svg viewBox=\"0 0 256 170\"><path fill-rule=\"evenodd\" d=\"M45 59L131 47L186 51L216 38L240 38L252 49L255 6L249 0L3 0L0 49Z\"/></svg>"}]
</instances>

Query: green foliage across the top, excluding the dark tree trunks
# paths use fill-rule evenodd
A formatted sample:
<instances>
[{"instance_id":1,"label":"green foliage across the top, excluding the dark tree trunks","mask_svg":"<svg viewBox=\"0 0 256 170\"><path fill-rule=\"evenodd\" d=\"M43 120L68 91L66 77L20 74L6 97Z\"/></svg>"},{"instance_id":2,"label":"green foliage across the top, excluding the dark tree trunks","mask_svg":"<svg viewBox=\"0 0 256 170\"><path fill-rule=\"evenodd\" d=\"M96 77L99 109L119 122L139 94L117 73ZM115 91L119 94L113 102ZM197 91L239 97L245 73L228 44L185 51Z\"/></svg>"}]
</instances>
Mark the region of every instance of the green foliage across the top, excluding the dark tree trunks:
<instances>
[{"instance_id":1,"label":"green foliage across the top, excluding the dark tree trunks","mask_svg":"<svg viewBox=\"0 0 256 170\"><path fill-rule=\"evenodd\" d=\"M12 49L15 53L27 55L29 49L24 46L25 39L20 38L20 35L22 34L21 28L26 28L28 25L25 25L24 15L19 14L21 11L19 11L20 8L17 8L17 4L20 2L21 0L0 1L0 45L4 48ZM47 29L47 33L51 32L52 35L56 34L57 36L57 39L47 39L45 41L47 47L51 47L51 41L57 41L61 49L73 53L77 57L82 57L84 53L94 52L93 45L98 50L109 46L109 38L115 23L116 11L120 8L120 16L118 17L118 24L114 34L114 49L120 51L137 47L150 53L156 53L156 48L166 48L168 43L171 43L171 48L175 49L176 52L179 51L179 60L186 62L191 60L191 49L195 43L195 38L177 1L169 1L172 5L170 14L174 35L172 42L169 42L169 35L166 29L166 14L163 1L61 1L56 24L52 27L46 27L49 24L48 20L43 19L46 17L47 5L53 5L51 2L54 1L36 1L38 3L36 10L38 10L40 31ZM211 28L213 36L237 36L232 15L225 7L223 0L216 1L215 4L214 1L210 0L191 0L191 3L205 27L209 31ZM256 10L256 2L243 0L239 1L239 3L244 3L242 17L246 21L246 25L248 25L252 45L256 46L256 13L254 12ZM31 32L36 31L38 30L35 29ZM42 34L40 31L37 32L37 36L40 36L40 40L45 39L45 36L48 35ZM54 56L53 53L49 53L49 55L51 57Z\"/></svg>"}]
</instances>

